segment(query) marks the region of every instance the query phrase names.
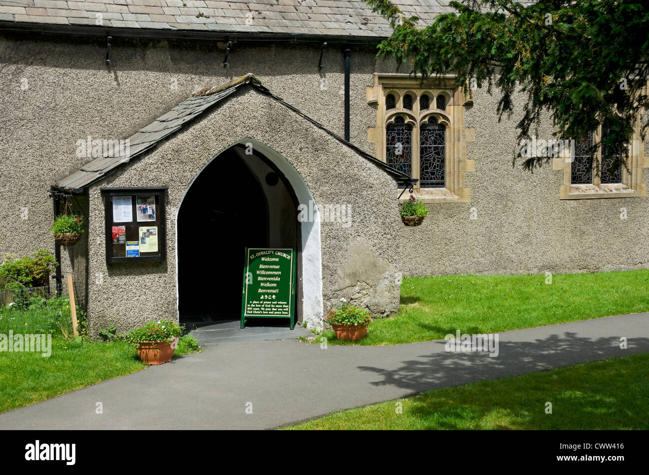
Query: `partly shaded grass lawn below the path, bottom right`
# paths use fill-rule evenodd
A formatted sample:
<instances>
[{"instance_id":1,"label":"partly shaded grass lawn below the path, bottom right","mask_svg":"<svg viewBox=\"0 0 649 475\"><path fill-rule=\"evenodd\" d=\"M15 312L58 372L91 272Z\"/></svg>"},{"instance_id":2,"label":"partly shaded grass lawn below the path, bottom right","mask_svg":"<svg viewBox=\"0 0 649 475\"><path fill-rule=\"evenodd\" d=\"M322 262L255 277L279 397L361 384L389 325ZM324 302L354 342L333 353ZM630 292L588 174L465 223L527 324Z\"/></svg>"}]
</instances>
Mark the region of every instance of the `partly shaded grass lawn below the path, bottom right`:
<instances>
[{"instance_id":1,"label":"partly shaded grass lawn below the path, bottom right","mask_svg":"<svg viewBox=\"0 0 649 475\"><path fill-rule=\"evenodd\" d=\"M288 429L647 430L647 407L649 354L639 354L436 389Z\"/></svg>"}]
</instances>

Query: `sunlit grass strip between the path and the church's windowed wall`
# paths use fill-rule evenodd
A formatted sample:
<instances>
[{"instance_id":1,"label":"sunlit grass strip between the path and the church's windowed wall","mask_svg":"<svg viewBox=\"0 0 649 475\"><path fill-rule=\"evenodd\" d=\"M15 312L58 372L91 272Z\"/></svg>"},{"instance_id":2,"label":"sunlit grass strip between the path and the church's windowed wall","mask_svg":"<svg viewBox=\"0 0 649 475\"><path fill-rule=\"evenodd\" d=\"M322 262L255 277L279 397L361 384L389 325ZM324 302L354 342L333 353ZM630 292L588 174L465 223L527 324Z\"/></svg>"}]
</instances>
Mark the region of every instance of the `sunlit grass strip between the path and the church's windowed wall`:
<instances>
[{"instance_id":1,"label":"sunlit grass strip between the path and the church's windowed wall","mask_svg":"<svg viewBox=\"0 0 649 475\"><path fill-rule=\"evenodd\" d=\"M545 275L406 277L395 316L376 319L360 342L394 345L448 333L495 333L649 310L649 270ZM319 339L316 339L318 342Z\"/></svg>"}]
</instances>

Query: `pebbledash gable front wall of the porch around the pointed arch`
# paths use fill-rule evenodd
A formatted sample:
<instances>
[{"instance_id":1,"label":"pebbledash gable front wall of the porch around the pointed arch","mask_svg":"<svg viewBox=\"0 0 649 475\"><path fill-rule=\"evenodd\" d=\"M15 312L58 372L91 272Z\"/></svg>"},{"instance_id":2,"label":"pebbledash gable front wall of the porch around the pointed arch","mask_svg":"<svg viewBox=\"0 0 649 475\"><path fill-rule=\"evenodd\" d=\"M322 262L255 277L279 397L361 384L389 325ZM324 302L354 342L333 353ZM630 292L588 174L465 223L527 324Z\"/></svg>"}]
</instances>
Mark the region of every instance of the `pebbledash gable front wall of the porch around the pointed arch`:
<instances>
[{"instance_id":1,"label":"pebbledash gable front wall of the porch around the pointed arch","mask_svg":"<svg viewBox=\"0 0 649 475\"><path fill-rule=\"evenodd\" d=\"M138 316L142 321L149 318L152 310L176 318L173 210L207 163L214 157L218 160L219 153L242 139L245 143L247 137L286 159L306 183L315 203L373 203L367 213L359 211L354 216L352 212L350 226L327 221L320 224L324 308L346 297L377 315L397 310L401 274L398 251L392 244L402 224L395 201L395 180L286 106L247 88L192 122L153 153L90 187L89 272L91 276L103 275L101 292L90 293L92 329L108 323L129 327ZM223 166L227 167L227 163ZM129 187L133 183L142 187L168 183L167 209L171 211L167 213L167 260L160 264L107 266L104 241L93 239L104 232L100 189ZM147 290L138 294L138 288ZM129 299L123 298L125 294ZM321 318L321 314L312 312L305 316L311 326Z\"/></svg>"}]
</instances>

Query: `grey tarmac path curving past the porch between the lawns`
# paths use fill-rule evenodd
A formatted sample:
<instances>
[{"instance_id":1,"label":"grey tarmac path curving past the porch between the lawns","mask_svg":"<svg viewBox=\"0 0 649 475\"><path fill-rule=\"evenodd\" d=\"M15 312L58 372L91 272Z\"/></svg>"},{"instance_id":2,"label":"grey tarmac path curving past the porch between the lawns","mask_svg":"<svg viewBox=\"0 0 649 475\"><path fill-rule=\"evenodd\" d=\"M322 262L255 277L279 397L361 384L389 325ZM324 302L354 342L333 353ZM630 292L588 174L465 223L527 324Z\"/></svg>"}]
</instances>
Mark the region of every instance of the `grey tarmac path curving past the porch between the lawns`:
<instances>
[{"instance_id":1,"label":"grey tarmac path curving past the porch between the lawns","mask_svg":"<svg viewBox=\"0 0 649 475\"><path fill-rule=\"evenodd\" d=\"M621 350L620 336L628 338ZM500 333L500 354L445 342L233 342L0 415L0 429L260 429L486 378L649 353L649 313ZM95 404L103 403L103 414ZM245 413L252 403L252 414Z\"/></svg>"}]
</instances>

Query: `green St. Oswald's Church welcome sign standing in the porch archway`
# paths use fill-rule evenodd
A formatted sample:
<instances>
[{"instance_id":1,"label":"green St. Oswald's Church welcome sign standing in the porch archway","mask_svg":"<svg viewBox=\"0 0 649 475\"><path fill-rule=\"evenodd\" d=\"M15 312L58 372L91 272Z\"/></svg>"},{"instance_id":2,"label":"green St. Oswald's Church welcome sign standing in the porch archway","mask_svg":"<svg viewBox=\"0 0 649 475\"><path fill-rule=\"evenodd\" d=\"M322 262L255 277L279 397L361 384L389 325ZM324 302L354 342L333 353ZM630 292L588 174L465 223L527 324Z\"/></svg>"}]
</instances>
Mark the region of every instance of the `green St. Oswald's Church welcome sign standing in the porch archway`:
<instances>
[{"instance_id":1,"label":"green St. Oswald's Church welcome sign standing in the porch archway","mask_svg":"<svg viewBox=\"0 0 649 475\"><path fill-rule=\"evenodd\" d=\"M295 249L245 248L241 328L246 318L289 318L295 327Z\"/></svg>"}]
</instances>

